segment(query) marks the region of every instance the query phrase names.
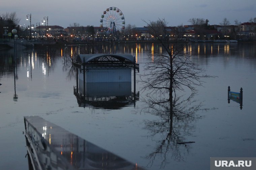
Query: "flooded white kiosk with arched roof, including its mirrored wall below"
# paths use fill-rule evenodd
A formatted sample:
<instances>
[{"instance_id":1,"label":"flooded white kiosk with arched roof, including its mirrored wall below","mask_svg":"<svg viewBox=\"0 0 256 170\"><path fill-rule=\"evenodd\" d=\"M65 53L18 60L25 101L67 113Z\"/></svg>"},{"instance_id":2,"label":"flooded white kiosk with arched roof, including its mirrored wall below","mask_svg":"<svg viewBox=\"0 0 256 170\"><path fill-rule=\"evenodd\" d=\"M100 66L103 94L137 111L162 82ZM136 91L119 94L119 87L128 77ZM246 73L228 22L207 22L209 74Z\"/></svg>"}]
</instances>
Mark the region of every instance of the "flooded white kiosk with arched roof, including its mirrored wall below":
<instances>
[{"instance_id":1,"label":"flooded white kiosk with arched roof, including its mirrored wall below","mask_svg":"<svg viewBox=\"0 0 256 170\"><path fill-rule=\"evenodd\" d=\"M76 67L74 94L84 101L126 99L136 95L136 71L139 64L130 54L79 54ZM131 71L134 72L134 92L131 93ZM79 87L79 88L78 88ZM103 98L102 98L103 97ZM110 101L110 100L108 100ZM123 102L123 101L122 101Z\"/></svg>"}]
</instances>

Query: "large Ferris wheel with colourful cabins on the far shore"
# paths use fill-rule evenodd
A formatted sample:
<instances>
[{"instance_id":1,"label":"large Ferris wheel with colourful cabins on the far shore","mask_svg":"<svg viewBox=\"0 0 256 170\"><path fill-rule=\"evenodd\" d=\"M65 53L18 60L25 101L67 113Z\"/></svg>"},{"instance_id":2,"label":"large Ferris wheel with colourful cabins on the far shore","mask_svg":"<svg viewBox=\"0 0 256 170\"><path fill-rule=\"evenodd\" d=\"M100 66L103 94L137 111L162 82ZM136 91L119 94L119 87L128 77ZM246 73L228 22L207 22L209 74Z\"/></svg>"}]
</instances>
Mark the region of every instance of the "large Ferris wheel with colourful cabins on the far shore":
<instances>
[{"instance_id":1,"label":"large Ferris wheel with colourful cabins on the far shore","mask_svg":"<svg viewBox=\"0 0 256 170\"><path fill-rule=\"evenodd\" d=\"M125 29L125 18L123 12L117 7L109 7L100 19L101 32L106 34L117 34L118 31Z\"/></svg>"}]
</instances>

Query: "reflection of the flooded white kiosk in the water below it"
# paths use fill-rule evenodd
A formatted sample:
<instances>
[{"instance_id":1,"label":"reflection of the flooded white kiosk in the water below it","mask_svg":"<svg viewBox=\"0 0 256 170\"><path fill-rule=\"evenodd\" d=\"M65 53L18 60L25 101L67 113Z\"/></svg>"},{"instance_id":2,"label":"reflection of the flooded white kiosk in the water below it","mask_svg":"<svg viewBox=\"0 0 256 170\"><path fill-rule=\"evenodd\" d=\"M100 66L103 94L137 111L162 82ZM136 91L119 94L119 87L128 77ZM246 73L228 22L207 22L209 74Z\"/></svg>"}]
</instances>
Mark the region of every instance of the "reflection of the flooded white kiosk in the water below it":
<instances>
[{"instance_id":1,"label":"reflection of the flooded white kiosk in the water below it","mask_svg":"<svg viewBox=\"0 0 256 170\"><path fill-rule=\"evenodd\" d=\"M139 100L139 92L136 93L131 90L131 81L85 82L85 77L89 76L90 79L90 74L87 76L85 74L86 72L78 73L78 69L76 69L74 95L79 106L121 109L125 106L135 106L136 101Z\"/></svg>"}]
</instances>

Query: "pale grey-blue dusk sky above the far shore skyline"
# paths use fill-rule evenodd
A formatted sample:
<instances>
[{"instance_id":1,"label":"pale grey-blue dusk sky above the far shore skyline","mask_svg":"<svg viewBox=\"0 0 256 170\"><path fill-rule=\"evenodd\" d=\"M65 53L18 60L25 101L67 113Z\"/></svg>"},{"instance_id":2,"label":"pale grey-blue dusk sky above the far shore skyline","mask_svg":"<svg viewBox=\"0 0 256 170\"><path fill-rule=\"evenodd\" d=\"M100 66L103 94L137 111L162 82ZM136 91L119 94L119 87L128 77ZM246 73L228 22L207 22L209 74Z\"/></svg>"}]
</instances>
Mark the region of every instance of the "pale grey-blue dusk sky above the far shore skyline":
<instances>
[{"instance_id":1,"label":"pale grey-blue dusk sky above the far shore skyline","mask_svg":"<svg viewBox=\"0 0 256 170\"><path fill-rule=\"evenodd\" d=\"M247 22L256 17L255 0L1 0L0 14L16 12L20 25L29 24L26 15L31 13L31 23L41 22L49 17L49 25L67 27L74 22L81 26L99 26L101 14L106 8L117 7L125 17L126 24L146 26L142 21L156 21L165 18L167 26L190 24L190 18L208 19L209 24L219 24L227 18L230 24L237 19Z\"/></svg>"}]
</instances>

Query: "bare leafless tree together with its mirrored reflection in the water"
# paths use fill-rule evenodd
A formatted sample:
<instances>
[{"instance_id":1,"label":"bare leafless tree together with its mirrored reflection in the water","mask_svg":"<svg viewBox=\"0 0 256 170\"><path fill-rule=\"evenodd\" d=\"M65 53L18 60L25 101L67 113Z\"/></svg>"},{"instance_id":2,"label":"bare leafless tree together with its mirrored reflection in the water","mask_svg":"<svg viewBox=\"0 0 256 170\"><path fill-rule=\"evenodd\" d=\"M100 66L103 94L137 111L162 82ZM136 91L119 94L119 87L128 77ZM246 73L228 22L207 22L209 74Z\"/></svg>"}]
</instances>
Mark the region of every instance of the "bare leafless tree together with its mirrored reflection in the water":
<instances>
[{"instance_id":1,"label":"bare leafless tree together with its mirrored reflection in the water","mask_svg":"<svg viewBox=\"0 0 256 170\"><path fill-rule=\"evenodd\" d=\"M159 116L158 120L147 121L146 128L152 131L152 136L161 137L154 151L146 156L150 160L148 166L160 157L160 168L164 168L167 158L183 160L181 149L189 153L190 145L186 144L194 141L188 141L185 136L190 135L193 129L191 122L200 118L195 113L205 110L192 98L197 92L196 87L202 86L201 79L212 76L204 74L205 70L191 61L190 51L185 50L187 42L183 39L183 27L170 30L164 19L159 21L160 26L146 22L161 50L149 56L140 81L142 91L149 99L150 113ZM188 96L182 96L183 92Z\"/></svg>"}]
</instances>

